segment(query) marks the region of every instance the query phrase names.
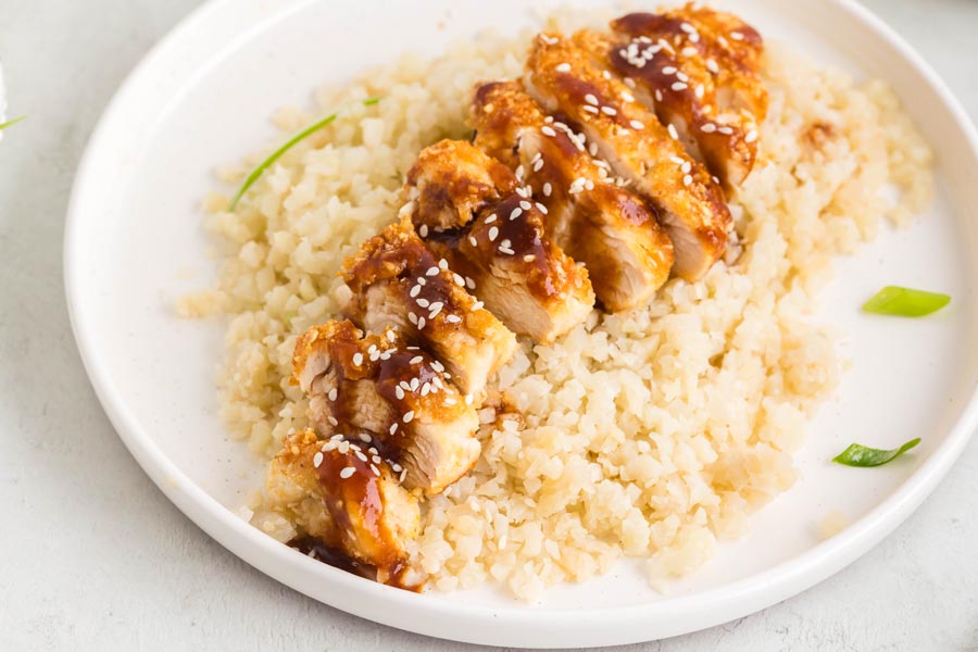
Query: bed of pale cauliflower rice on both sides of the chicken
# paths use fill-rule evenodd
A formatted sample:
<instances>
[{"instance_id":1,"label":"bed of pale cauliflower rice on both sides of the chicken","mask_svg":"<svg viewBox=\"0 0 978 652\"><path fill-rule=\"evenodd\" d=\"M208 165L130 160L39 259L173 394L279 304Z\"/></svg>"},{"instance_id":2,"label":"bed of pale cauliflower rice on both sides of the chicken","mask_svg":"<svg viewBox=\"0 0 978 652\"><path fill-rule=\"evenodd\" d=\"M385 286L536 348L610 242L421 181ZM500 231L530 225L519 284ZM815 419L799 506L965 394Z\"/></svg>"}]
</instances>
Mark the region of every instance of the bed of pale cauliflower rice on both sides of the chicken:
<instances>
[{"instance_id":1,"label":"bed of pale cauliflower rice on both sides of the chicken","mask_svg":"<svg viewBox=\"0 0 978 652\"><path fill-rule=\"evenodd\" d=\"M275 121L292 133L343 108L334 124L268 170L236 213L227 197L208 199L220 285L178 308L228 315L223 416L260 455L309 424L288 383L292 348L341 312L341 261L394 218L418 151L467 135L473 85L517 76L527 43L487 35L324 88L318 110ZM739 244L647 308L595 311L555 344L523 342L498 377L522 422L484 427L475 469L426 503L413 559L438 589L491 581L535 599L623 555L644 557L657 586L710 560L794 482L791 453L841 372L833 334L811 321L816 293L833 255L928 201L930 152L881 83L772 47L764 77L762 156L730 198ZM383 100L360 102L372 96ZM240 183L264 155L223 179ZM888 186L899 203L885 199ZM249 506L268 534L297 535L261 497Z\"/></svg>"}]
</instances>

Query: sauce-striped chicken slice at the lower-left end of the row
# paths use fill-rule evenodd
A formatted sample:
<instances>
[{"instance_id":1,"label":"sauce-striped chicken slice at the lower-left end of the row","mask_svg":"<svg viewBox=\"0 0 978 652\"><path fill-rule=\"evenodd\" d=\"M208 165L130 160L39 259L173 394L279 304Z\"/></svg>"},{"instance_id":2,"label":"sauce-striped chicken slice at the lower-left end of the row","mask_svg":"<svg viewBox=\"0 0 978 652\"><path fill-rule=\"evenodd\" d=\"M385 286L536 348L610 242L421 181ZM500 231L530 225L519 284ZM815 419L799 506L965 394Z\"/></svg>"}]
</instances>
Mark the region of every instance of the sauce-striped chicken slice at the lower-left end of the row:
<instances>
[{"instance_id":1,"label":"sauce-striped chicken slice at the lower-left end of the row","mask_svg":"<svg viewBox=\"0 0 978 652\"><path fill-rule=\"evenodd\" d=\"M390 464L366 444L321 441L311 429L283 443L265 477L268 506L326 548L375 566L378 581L397 580L421 510Z\"/></svg>"}]
</instances>

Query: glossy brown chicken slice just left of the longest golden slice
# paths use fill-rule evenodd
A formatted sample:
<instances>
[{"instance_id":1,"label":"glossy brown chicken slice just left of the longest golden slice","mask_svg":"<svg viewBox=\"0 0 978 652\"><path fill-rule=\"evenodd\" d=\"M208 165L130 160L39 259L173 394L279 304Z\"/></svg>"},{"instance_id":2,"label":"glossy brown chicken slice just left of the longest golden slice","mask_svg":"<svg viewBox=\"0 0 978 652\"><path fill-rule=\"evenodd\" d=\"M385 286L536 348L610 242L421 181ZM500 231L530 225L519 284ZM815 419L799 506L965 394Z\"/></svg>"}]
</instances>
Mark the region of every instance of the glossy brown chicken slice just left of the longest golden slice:
<instances>
[{"instance_id":1,"label":"glossy brown chicken slice just left of the longest golden slice","mask_svg":"<svg viewBox=\"0 0 978 652\"><path fill-rule=\"evenodd\" d=\"M525 175L548 235L582 262L610 311L635 308L669 277L673 244L642 198L619 188L584 138L546 115L518 82L492 82L472 102L475 145Z\"/></svg>"}]
</instances>

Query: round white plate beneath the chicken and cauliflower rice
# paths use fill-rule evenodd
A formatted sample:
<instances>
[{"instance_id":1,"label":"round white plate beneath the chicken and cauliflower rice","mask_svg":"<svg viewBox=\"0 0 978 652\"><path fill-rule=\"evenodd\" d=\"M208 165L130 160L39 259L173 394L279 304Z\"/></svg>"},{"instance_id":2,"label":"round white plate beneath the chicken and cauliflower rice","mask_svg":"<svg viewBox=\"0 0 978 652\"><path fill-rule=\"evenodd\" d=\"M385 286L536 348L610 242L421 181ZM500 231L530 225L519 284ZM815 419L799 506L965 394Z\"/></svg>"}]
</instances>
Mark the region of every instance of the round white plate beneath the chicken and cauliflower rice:
<instances>
[{"instance_id":1,"label":"round white plate beneath the chicken and cauliflower rice","mask_svg":"<svg viewBox=\"0 0 978 652\"><path fill-rule=\"evenodd\" d=\"M555 2L534 2L541 4ZM801 481L724 543L703 572L653 592L635 565L557 587L527 606L492 590L413 594L336 570L288 549L229 507L258 484L258 464L225 440L213 369L222 327L172 313L212 273L199 205L212 168L274 136L267 116L302 104L329 79L408 50L436 53L490 24L515 32L528 3L380 0L214 0L164 39L105 111L78 171L65 236L65 280L86 368L139 464L195 523L231 552L317 600L431 636L503 645L601 645L715 625L792 595L839 570L892 530L957 457L978 422L978 138L944 86L888 28L853 2L723 3L766 38L900 93L938 152L935 205L840 261L825 317L849 335L855 364L797 456ZM449 11L449 7L451 10ZM444 28L439 28L443 22ZM187 280L186 268L199 274ZM886 284L948 291L927 319L863 316ZM827 461L853 440L923 444L898 463L851 469ZM854 524L819 541L840 510Z\"/></svg>"}]
</instances>

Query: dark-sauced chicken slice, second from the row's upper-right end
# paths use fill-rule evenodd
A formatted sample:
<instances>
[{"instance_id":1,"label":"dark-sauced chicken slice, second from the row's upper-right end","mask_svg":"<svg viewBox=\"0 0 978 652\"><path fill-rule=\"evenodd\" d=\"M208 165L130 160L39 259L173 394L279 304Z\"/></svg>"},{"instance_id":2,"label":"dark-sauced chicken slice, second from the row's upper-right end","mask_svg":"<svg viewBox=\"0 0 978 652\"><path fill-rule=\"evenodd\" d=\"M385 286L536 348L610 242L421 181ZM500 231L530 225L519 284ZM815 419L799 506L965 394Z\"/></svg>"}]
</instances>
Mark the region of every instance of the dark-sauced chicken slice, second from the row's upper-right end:
<instances>
[{"instance_id":1,"label":"dark-sauced chicken slice, second from the row's upper-right end","mask_svg":"<svg viewBox=\"0 0 978 652\"><path fill-rule=\"evenodd\" d=\"M627 16L626 16L627 18ZM623 18L624 21L625 18ZM687 151L726 188L741 184L757 158L757 126L747 110L720 111L707 59L678 30L677 43L647 36L612 38L579 32L574 41L614 71L660 122L672 125ZM698 40L697 42L702 42Z\"/></svg>"}]
</instances>

